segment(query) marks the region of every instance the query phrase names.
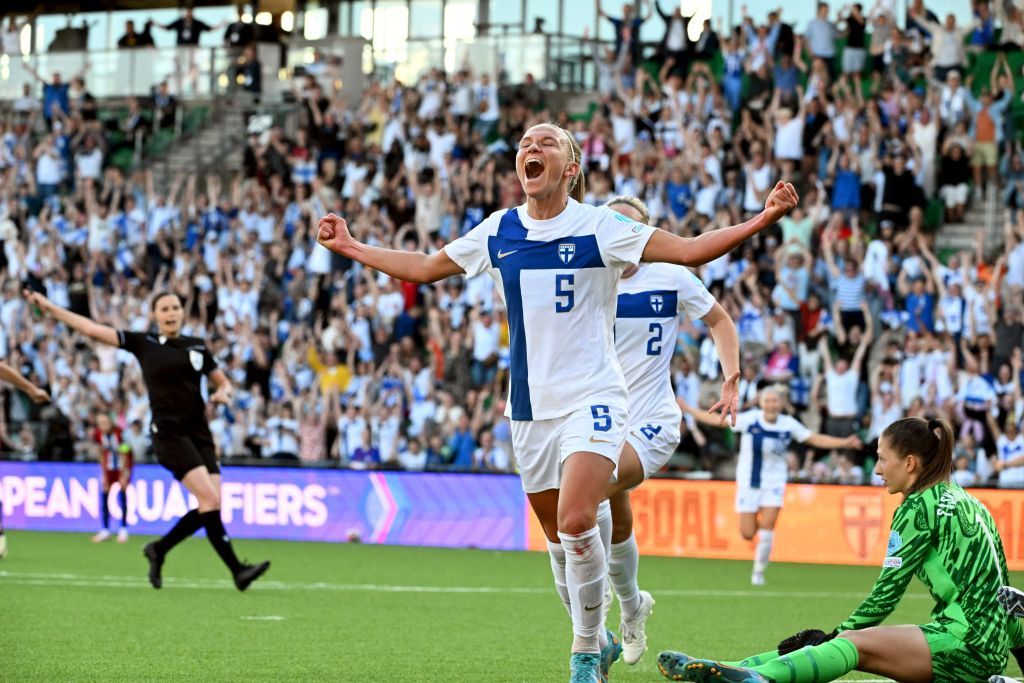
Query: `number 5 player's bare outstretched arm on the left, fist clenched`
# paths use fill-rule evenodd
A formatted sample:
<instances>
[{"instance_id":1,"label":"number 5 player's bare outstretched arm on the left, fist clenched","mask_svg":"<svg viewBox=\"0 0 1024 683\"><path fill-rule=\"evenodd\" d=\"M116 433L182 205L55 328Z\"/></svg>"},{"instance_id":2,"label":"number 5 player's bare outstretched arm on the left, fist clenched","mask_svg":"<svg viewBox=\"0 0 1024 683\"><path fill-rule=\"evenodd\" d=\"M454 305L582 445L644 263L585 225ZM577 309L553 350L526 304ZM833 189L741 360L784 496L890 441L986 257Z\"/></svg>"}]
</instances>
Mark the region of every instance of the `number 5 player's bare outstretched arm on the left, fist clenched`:
<instances>
[{"instance_id":1,"label":"number 5 player's bare outstretched arm on the left, fist clenched","mask_svg":"<svg viewBox=\"0 0 1024 683\"><path fill-rule=\"evenodd\" d=\"M345 219L333 213L321 218L316 242L336 254L411 283L435 283L465 272L443 249L427 255L361 244L352 238Z\"/></svg>"}]
</instances>

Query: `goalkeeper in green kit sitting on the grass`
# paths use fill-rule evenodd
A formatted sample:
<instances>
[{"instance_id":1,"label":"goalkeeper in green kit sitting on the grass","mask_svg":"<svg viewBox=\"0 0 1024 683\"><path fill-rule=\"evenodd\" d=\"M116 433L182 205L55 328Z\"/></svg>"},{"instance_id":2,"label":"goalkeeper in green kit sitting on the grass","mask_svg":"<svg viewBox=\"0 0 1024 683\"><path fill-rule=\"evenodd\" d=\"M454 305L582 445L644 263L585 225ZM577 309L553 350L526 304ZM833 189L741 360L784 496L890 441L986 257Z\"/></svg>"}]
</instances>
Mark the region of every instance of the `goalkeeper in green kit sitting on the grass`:
<instances>
[{"instance_id":1,"label":"goalkeeper in green kit sitting on the grass","mask_svg":"<svg viewBox=\"0 0 1024 683\"><path fill-rule=\"evenodd\" d=\"M950 480L952 449L945 420L905 418L882 434L874 471L903 501L882 574L835 631L802 631L741 661L663 652L662 673L728 683L818 683L854 670L907 683L985 682L1001 674L1009 649L1024 654L1024 632L999 606L1007 583L1002 543L985 506ZM931 623L879 626L913 577L935 599Z\"/></svg>"}]
</instances>

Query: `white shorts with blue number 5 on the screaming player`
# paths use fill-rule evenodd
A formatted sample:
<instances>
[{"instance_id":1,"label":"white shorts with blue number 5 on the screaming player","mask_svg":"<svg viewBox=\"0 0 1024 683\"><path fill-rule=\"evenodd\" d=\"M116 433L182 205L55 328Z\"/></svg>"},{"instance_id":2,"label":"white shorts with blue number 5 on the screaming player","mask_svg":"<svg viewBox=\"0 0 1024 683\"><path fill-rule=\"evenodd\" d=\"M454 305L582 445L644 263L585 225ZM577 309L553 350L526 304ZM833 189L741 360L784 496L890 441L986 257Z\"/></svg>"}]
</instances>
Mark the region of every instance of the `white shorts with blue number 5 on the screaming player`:
<instances>
[{"instance_id":1,"label":"white shorts with blue number 5 on the screaming player","mask_svg":"<svg viewBox=\"0 0 1024 683\"><path fill-rule=\"evenodd\" d=\"M615 465L626 440L629 409L600 398L552 420L512 420L512 453L527 494L559 488L562 463L573 453L596 453Z\"/></svg>"}]
</instances>

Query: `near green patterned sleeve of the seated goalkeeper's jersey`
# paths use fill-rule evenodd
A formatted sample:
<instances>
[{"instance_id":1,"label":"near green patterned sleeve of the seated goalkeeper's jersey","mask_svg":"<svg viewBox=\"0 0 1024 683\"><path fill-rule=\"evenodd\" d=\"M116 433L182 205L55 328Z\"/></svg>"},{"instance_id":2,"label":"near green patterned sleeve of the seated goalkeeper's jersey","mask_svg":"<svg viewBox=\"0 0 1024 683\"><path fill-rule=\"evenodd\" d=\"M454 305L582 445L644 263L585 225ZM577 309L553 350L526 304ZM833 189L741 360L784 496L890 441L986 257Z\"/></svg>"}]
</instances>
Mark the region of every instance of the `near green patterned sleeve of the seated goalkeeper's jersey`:
<instances>
[{"instance_id":1,"label":"near green patterned sleeve of the seated goalkeeper's jersey","mask_svg":"<svg viewBox=\"0 0 1024 683\"><path fill-rule=\"evenodd\" d=\"M882 574L871 594L839 631L856 631L881 624L896 608L914 572L932 548L933 527L924 498L914 496L896 508Z\"/></svg>"}]
</instances>

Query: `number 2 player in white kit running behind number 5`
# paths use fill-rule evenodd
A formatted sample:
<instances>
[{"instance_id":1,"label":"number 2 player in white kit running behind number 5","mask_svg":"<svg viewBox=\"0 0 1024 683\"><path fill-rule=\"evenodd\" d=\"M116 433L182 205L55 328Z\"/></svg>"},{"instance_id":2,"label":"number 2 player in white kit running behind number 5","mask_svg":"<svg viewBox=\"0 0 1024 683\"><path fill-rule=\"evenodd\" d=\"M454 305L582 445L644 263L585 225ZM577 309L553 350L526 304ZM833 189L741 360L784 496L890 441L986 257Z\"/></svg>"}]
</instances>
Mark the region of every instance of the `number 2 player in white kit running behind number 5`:
<instances>
[{"instance_id":1,"label":"number 2 player in white kit running behind number 5","mask_svg":"<svg viewBox=\"0 0 1024 683\"><path fill-rule=\"evenodd\" d=\"M641 223L650 217L643 202L616 197L605 204ZM688 268L671 263L629 266L618 283L615 311L615 352L630 392L630 426L618 459L618 478L611 484L611 549L608 578L622 612L623 659L636 664L647 650L645 627L654 599L637 581L640 554L633 536L630 489L665 467L679 446L682 411L672 390L672 356L679 316L703 321L715 340L726 378L722 400L732 417L739 410L739 338L736 326L703 283ZM610 596L605 598L605 613Z\"/></svg>"}]
</instances>

